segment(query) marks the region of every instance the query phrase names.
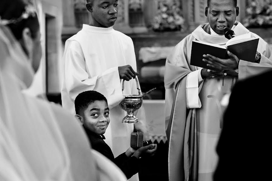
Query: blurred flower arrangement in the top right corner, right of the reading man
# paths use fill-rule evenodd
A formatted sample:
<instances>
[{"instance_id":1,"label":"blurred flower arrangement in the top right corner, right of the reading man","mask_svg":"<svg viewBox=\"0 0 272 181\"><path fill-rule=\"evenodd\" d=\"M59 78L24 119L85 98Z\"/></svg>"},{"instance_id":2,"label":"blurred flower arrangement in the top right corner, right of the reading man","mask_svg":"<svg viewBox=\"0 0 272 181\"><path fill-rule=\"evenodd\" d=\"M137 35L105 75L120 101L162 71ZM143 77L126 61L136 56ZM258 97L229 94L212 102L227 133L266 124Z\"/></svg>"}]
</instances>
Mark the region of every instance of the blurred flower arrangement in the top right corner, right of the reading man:
<instances>
[{"instance_id":1,"label":"blurred flower arrangement in the top right corner, right of the reading man","mask_svg":"<svg viewBox=\"0 0 272 181\"><path fill-rule=\"evenodd\" d=\"M245 27L272 27L272 0L248 1Z\"/></svg>"}]
</instances>

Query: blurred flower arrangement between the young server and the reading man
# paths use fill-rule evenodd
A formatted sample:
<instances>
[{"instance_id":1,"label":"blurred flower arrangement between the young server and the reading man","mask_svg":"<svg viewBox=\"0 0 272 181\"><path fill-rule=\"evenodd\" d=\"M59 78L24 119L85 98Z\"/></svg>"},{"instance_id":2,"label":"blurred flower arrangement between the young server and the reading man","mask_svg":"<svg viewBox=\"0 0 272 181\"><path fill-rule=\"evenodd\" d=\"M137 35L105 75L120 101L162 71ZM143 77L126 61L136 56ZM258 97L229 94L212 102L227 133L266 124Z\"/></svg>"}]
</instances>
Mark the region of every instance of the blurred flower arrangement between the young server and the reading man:
<instances>
[{"instance_id":1,"label":"blurred flower arrangement between the young server and the reading man","mask_svg":"<svg viewBox=\"0 0 272 181\"><path fill-rule=\"evenodd\" d=\"M152 29L154 31L183 30L184 19L178 0L162 0L158 5L157 15L154 17Z\"/></svg>"}]
</instances>

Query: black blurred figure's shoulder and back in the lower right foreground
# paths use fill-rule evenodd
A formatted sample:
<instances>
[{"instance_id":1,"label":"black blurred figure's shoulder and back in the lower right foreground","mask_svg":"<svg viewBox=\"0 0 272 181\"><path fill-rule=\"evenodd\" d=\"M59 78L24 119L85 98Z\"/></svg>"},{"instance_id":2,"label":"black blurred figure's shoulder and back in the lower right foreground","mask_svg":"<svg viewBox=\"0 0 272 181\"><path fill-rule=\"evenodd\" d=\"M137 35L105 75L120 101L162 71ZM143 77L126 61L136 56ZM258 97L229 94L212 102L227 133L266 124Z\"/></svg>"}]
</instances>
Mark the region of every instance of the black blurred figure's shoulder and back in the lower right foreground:
<instances>
[{"instance_id":1,"label":"black blurred figure's shoulder and back in the lower right foreground","mask_svg":"<svg viewBox=\"0 0 272 181\"><path fill-rule=\"evenodd\" d=\"M214 181L270 177L271 77L272 71L235 85L216 149Z\"/></svg>"}]
</instances>

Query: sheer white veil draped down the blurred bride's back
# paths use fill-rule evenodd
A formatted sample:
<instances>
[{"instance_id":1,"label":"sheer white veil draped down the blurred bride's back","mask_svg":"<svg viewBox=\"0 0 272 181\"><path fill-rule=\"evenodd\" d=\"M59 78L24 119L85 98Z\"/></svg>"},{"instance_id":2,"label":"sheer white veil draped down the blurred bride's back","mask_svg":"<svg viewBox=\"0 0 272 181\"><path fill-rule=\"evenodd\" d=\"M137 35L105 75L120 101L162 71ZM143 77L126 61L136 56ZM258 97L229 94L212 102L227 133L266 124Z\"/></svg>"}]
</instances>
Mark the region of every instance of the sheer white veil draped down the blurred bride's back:
<instances>
[{"instance_id":1,"label":"sheer white veil draped down the blurred bride's back","mask_svg":"<svg viewBox=\"0 0 272 181\"><path fill-rule=\"evenodd\" d=\"M68 149L49 104L45 116L21 93L34 72L4 26L0 47L0 180L72 180Z\"/></svg>"}]
</instances>

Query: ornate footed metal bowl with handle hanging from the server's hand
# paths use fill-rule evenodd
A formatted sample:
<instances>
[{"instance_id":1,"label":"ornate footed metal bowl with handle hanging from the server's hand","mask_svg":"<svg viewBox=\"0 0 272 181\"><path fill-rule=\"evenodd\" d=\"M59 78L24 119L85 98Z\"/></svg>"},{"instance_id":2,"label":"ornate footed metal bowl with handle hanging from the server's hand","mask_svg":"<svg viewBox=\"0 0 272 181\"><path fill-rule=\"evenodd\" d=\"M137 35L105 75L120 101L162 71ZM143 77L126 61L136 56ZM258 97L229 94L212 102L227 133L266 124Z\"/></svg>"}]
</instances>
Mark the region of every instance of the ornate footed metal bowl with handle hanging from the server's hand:
<instances>
[{"instance_id":1,"label":"ornate footed metal bowl with handle hanging from the server's hand","mask_svg":"<svg viewBox=\"0 0 272 181\"><path fill-rule=\"evenodd\" d=\"M138 94L139 95L124 95L124 99L119 103L119 106L127 112L127 116L124 117L122 123L138 123L138 118L134 116L134 111L138 110L143 103L144 95L141 95L141 89L139 89L139 83L137 77L135 77ZM124 82L122 84L122 91L124 90Z\"/></svg>"}]
</instances>

